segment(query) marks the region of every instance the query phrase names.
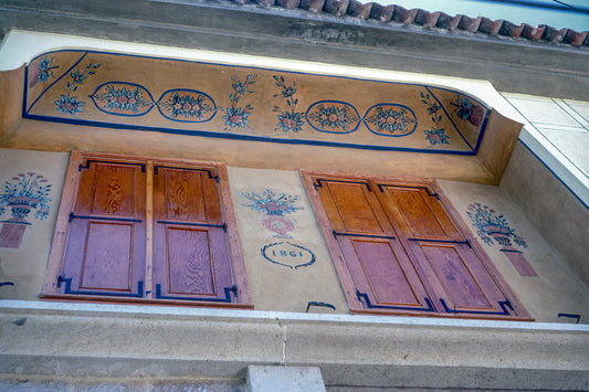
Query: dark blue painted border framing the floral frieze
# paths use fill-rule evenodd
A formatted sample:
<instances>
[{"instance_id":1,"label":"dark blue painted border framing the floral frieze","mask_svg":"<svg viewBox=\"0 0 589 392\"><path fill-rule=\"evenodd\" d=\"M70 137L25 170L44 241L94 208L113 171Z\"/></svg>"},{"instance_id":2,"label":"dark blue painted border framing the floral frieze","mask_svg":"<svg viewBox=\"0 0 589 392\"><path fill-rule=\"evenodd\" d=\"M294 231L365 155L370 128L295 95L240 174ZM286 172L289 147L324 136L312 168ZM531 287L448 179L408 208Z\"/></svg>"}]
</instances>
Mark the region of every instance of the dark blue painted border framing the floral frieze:
<instances>
[{"instance_id":1,"label":"dark blue painted border framing the floral frieze","mask_svg":"<svg viewBox=\"0 0 589 392\"><path fill-rule=\"evenodd\" d=\"M269 72L281 72L284 74L294 74L294 75L311 75L311 76L320 76L320 77L332 77L332 78L341 78L346 81L358 81L358 82L371 82L371 83L381 83L381 84L390 84L390 85L404 85L404 86L417 86L428 89L429 85L419 84L419 83L402 83L402 82L391 82L391 81L375 81L375 80L368 80L368 78L360 78L360 77L353 77L353 76L339 76L339 75L324 75L324 74L315 74L315 73L305 73L305 72L297 72L297 71L284 71L284 70L273 70L273 68L266 68L261 66L252 66L252 65L228 65L228 64L219 64L219 63L212 63L212 62L199 62L199 61L192 61L192 60L183 60L183 59L168 59L168 57L157 57L157 56L149 56L149 55L140 55L140 54L133 54L133 53L112 53L112 52L104 52L104 51L87 51L87 50L76 50L76 49L69 49L69 50L55 50L55 51L49 51L39 54L38 56L33 57L30 63L35 61L36 59L53 54L53 53L60 53L60 52L78 52L84 53L84 56L80 59L77 63L80 63L88 53L95 53L95 54L106 54L112 56L127 56L127 57L137 57L137 59L150 59L150 60L169 60L169 61L176 61L176 62L185 62L185 63L192 63L192 64L203 64L203 65L215 65L215 66L227 66L227 67L235 67L235 68L246 68L246 70L260 70L260 71L269 71ZM77 63L75 65L77 65ZM75 66L74 65L74 66ZM72 66L71 68L73 68ZM67 72L71 71L67 70ZM481 130L478 133L478 140L475 148L471 151L460 151L460 150L439 150L439 149L421 149L421 148L407 148L407 147L391 147L391 146L374 146L374 145L355 145L355 144L347 144L347 142L334 142L334 141L317 141L317 140L305 140L305 139L276 139L271 137L256 137L256 136L249 136L249 135L233 135L233 134L220 134L214 131L202 131L202 130L185 130L185 129L175 129L175 128L161 128L161 127L149 127L149 126L133 126L133 125L125 125L125 124L113 124L113 123L99 123L99 121L91 121L91 120L80 120L80 119L69 119L63 117L49 117L49 116L39 116L39 115L31 115L29 114L29 110L25 109L27 107L27 99L28 99L28 75L29 75L29 65L24 68L25 77L24 77L24 94L23 94L23 118L29 119L35 119L35 120L43 120L43 121L52 121L52 123L60 123L60 124L74 124L74 125L85 125L85 126L94 126L94 127L102 127L102 128L115 128L115 129L136 129L136 130L156 130L161 133L168 133L168 134L178 134L178 135L196 135L196 136L204 136L204 137L219 137L219 138L227 138L227 139L243 139L243 140L259 140L259 141L269 141L269 142L277 142L277 144L292 144L292 145L312 145L312 146L327 146L327 147L344 147L344 148L355 148L355 149L365 149L365 150L377 150L377 151L404 151L404 152L423 152L423 153L442 153L442 155L459 155L459 156L475 156L478 151L480 142L483 139L484 133L486 131L486 117L481 126ZM65 72L64 75L67 73ZM61 76L63 77L63 75ZM60 78L61 78L60 77ZM54 83L56 83L55 81ZM54 84L52 83L52 85ZM51 86L52 86L51 85ZM455 94L462 94L465 97L469 97L473 100L476 100L478 104L481 102L476 98L473 98L471 95L465 94L461 91L454 91L450 88L443 88L443 87L437 87L437 86L430 86L432 88L439 88L448 92L452 92ZM49 87L48 87L49 88ZM46 91L46 89L45 89ZM44 94L44 92L43 92ZM41 97L41 96L40 96ZM39 97L39 98L40 98ZM35 103L36 100L35 99ZM487 109L486 105L482 105ZM32 107L32 105L31 105ZM459 133L460 134L460 133ZM461 135L462 137L462 135Z\"/></svg>"}]
</instances>

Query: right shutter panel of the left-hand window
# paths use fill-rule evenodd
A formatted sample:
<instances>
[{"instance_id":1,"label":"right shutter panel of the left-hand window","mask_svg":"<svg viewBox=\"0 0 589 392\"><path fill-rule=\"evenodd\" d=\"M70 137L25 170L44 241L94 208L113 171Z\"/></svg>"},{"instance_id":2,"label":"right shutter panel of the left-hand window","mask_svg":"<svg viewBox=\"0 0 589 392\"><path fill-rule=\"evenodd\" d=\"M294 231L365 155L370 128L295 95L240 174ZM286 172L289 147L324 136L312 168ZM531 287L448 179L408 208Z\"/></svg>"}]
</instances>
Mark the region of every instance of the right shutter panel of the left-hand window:
<instances>
[{"instance_id":1,"label":"right shutter panel of the left-hand window","mask_svg":"<svg viewBox=\"0 0 589 392\"><path fill-rule=\"evenodd\" d=\"M155 166L156 298L235 300L215 169Z\"/></svg>"}]
</instances>

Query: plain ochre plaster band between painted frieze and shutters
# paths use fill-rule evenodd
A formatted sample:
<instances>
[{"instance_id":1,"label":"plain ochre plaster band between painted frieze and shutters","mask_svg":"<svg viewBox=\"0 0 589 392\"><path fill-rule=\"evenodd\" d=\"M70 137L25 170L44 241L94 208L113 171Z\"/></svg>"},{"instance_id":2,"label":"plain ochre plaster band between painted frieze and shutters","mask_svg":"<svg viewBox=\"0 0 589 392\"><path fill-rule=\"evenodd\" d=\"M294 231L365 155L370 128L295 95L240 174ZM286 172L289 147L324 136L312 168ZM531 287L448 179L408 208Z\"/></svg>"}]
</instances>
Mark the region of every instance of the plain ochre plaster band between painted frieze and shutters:
<instances>
[{"instance_id":1,"label":"plain ochre plaster band between painted frieze and shutters","mask_svg":"<svg viewBox=\"0 0 589 392\"><path fill-rule=\"evenodd\" d=\"M474 156L284 145L74 126L30 119L23 119L18 131L7 138L1 147L175 157L223 161L231 166L260 169L296 170L306 167L317 170L437 177L483 183L491 181L490 172Z\"/></svg>"}]
</instances>

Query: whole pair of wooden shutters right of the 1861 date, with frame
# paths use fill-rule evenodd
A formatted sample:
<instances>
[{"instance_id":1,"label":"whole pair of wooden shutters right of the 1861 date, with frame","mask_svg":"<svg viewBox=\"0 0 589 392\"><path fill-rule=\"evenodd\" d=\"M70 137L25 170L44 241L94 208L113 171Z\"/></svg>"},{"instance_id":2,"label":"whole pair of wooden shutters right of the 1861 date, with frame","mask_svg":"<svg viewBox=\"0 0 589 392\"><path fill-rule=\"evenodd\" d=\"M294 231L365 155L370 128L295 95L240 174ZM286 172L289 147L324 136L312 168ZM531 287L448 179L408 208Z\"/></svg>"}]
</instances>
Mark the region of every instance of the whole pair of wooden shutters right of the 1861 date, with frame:
<instances>
[{"instance_id":1,"label":"whole pair of wooden shutters right of the 1861 date, with frame","mask_svg":"<svg viewBox=\"0 0 589 392\"><path fill-rule=\"evenodd\" d=\"M353 312L530 320L433 181L302 174Z\"/></svg>"}]
</instances>

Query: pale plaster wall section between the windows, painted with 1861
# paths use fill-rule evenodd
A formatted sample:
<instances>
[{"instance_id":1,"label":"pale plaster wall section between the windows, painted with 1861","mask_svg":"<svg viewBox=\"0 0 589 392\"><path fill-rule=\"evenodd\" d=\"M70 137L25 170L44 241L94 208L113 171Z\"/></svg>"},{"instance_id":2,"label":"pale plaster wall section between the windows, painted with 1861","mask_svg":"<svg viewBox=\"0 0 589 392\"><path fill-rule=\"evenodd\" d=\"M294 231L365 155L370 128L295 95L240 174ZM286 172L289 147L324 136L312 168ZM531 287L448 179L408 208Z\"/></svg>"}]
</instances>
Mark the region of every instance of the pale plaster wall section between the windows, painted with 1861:
<instances>
[{"instance_id":1,"label":"pale plaster wall section between the windows, painted with 1861","mask_svg":"<svg viewBox=\"0 0 589 392\"><path fill-rule=\"evenodd\" d=\"M309 301L316 301L336 309L312 306L311 312L347 314L348 305L298 171L230 167L229 177L255 309L305 311ZM275 215L263 208L252 209L252 192L267 200L267 191L274 193L271 199L295 199L292 206L296 210Z\"/></svg>"}]
</instances>

